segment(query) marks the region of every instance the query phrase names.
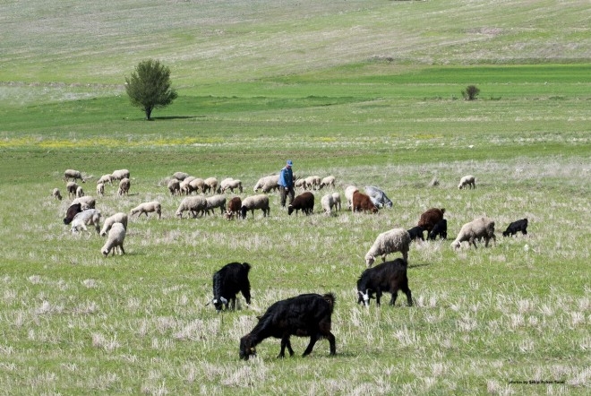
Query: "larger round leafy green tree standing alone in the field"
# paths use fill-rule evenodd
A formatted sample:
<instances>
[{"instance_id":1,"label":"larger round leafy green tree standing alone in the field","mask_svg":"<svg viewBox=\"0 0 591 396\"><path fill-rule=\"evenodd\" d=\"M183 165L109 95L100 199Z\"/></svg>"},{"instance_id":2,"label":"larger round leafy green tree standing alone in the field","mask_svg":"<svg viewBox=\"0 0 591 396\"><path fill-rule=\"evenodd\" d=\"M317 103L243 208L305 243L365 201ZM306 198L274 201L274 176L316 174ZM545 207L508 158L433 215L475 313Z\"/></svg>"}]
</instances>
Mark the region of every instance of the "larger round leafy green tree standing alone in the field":
<instances>
[{"instance_id":1,"label":"larger round leafy green tree standing alone in the field","mask_svg":"<svg viewBox=\"0 0 591 396\"><path fill-rule=\"evenodd\" d=\"M170 85L170 69L153 59L141 61L132 75L125 77L132 105L141 108L148 120L154 108L166 108L178 96Z\"/></svg>"}]
</instances>

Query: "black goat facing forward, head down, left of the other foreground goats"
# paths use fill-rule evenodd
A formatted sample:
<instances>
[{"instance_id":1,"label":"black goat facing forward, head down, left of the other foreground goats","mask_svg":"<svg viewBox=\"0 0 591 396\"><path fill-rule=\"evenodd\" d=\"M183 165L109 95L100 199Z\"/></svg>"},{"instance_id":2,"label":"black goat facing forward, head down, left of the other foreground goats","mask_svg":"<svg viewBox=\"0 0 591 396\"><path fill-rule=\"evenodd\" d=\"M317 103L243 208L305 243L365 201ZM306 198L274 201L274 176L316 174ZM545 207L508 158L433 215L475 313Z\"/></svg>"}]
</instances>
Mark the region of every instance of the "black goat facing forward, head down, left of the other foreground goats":
<instances>
[{"instance_id":1,"label":"black goat facing forward, head down, left of the other foreground goats","mask_svg":"<svg viewBox=\"0 0 591 396\"><path fill-rule=\"evenodd\" d=\"M248 280L249 263L228 263L213 274L213 306L218 313L223 306L236 309L236 294L241 292L246 304L251 304L251 282Z\"/></svg>"}]
</instances>

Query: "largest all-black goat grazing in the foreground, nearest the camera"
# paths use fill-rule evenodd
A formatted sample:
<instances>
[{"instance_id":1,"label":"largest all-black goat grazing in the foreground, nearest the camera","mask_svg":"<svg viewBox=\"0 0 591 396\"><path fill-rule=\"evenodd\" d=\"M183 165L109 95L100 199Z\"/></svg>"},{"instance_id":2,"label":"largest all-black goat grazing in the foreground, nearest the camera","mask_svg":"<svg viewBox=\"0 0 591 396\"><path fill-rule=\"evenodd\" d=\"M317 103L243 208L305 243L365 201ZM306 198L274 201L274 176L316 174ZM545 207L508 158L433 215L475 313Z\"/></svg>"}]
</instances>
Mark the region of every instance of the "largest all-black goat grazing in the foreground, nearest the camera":
<instances>
[{"instance_id":1,"label":"largest all-black goat grazing in the foreground, nearest the camera","mask_svg":"<svg viewBox=\"0 0 591 396\"><path fill-rule=\"evenodd\" d=\"M285 357L286 348L289 356L294 356L294 349L289 341L292 335L310 337L310 343L302 356L310 354L316 341L321 338L329 340L330 355L335 355L335 336L330 332L330 316L334 306L335 297L332 293L323 296L302 294L274 303L259 318L253 331L240 339L240 358L248 360L248 357L256 355L254 347L269 337L281 339L278 357Z\"/></svg>"}]
</instances>

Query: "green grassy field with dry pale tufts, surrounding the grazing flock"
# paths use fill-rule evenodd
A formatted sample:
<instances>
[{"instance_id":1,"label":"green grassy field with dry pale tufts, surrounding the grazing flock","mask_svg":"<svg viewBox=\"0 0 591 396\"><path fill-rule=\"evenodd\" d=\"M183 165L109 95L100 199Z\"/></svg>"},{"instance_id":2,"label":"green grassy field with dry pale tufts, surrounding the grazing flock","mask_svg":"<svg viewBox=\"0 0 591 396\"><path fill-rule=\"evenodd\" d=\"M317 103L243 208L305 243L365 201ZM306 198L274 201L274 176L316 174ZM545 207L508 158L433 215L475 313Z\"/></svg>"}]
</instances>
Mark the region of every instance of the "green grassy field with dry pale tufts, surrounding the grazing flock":
<instances>
[{"instance_id":1,"label":"green grassy field with dry pale tufts, surrounding the grazing flock","mask_svg":"<svg viewBox=\"0 0 591 396\"><path fill-rule=\"evenodd\" d=\"M587 1L0 2L0 394L587 394L590 16ZM146 57L179 92L153 122L122 86ZM286 159L394 207L325 216L328 189L308 217L277 194L269 218L175 217L173 172L239 178L244 198ZM133 217L126 254L102 257L50 196L66 168L91 195L130 169L130 195L107 185L98 209L158 200L162 219ZM468 173L476 189L458 190ZM496 244L414 243L415 306L358 306L374 238L431 207L451 239L491 217ZM527 237L501 237L525 217ZM211 275L234 261L253 265L253 305L216 314ZM294 338L295 357L265 340L238 359L270 304L329 291L336 357Z\"/></svg>"}]
</instances>

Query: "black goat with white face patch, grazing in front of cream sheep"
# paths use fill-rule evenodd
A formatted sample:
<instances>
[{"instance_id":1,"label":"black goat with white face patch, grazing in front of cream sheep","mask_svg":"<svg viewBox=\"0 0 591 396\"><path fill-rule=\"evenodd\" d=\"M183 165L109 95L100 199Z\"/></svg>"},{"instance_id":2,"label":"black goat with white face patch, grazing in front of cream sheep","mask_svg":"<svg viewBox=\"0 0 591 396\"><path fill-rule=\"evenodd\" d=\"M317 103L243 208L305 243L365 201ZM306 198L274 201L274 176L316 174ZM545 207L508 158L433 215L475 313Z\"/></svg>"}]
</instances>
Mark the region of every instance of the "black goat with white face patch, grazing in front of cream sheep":
<instances>
[{"instance_id":1,"label":"black goat with white face patch, grazing in front of cream sheep","mask_svg":"<svg viewBox=\"0 0 591 396\"><path fill-rule=\"evenodd\" d=\"M413 298L410 288L408 288L407 264L400 258L363 271L357 280L357 295L359 296L357 304L363 302L364 306L369 306L370 299L373 298L373 292L375 292L376 304L380 306L381 294L386 291L392 294L390 306L393 306L396 303L396 297L398 297L398 290L402 290L407 295L407 304L412 306Z\"/></svg>"}]
</instances>

